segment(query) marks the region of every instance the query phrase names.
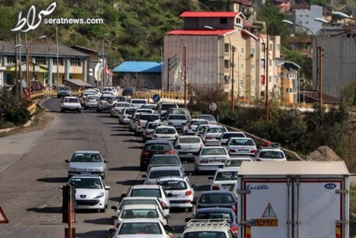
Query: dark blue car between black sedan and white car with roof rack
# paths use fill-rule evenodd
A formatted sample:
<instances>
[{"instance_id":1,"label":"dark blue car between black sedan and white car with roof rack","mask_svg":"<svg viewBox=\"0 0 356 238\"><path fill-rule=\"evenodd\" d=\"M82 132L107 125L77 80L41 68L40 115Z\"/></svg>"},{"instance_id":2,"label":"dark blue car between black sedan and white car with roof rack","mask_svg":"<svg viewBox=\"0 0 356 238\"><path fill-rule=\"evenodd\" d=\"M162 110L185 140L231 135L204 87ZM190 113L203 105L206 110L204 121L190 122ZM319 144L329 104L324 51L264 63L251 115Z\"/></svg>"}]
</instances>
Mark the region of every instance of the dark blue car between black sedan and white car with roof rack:
<instances>
[{"instance_id":1,"label":"dark blue car between black sedan and white car with roof rack","mask_svg":"<svg viewBox=\"0 0 356 238\"><path fill-rule=\"evenodd\" d=\"M204 220L226 220L229 223L230 228L234 236L237 236L237 217L231 208L226 207L208 207L200 208L195 211L193 217L185 218L185 222L189 222L192 219L204 219Z\"/></svg>"}]
</instances>

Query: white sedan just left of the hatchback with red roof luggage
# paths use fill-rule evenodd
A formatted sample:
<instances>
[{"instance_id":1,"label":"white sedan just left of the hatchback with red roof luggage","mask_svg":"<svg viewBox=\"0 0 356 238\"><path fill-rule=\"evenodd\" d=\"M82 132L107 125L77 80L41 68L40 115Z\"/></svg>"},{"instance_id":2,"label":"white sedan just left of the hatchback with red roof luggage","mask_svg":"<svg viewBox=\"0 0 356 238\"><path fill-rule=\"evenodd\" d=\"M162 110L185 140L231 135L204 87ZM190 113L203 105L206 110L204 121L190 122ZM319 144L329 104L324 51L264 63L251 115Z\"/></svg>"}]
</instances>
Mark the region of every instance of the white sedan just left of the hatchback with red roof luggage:
<instances>
[{"instance_id":1,"label":"white sedan just left of the hatchback with red roof luggage","mask_svg":"<svg viewBox=\"0 0 356 238\"><path fill-rule=\"evenodd\" d=\"M227 139L225 144L230 157L239 155L253 156L257 152L255 142L249 137L231 137Z\"/></svg>"}]
</instances>

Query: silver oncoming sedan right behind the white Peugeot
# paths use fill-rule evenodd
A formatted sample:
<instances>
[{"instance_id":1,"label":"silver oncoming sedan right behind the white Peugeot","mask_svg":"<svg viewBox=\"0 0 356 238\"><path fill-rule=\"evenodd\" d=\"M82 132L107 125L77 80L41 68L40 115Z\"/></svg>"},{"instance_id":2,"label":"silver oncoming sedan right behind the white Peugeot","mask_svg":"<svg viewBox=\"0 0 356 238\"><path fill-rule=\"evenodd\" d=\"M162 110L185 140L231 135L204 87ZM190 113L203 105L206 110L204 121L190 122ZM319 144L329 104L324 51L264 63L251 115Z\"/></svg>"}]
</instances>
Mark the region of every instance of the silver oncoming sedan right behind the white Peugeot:
<instances>
[{"instance_id":1,"label":"silver oncoming sedan right behind the white Peugeot","mask_svg":"<svg viewBox=\"0 0 356 238\"><path fill-rule=\"evenodd\" d=\"M76 174L96 174L105 178L108 161L99 151L78 150L74 152L72 159L65 161L68 163L68 178Z\"/></svg>"}]
</instances>

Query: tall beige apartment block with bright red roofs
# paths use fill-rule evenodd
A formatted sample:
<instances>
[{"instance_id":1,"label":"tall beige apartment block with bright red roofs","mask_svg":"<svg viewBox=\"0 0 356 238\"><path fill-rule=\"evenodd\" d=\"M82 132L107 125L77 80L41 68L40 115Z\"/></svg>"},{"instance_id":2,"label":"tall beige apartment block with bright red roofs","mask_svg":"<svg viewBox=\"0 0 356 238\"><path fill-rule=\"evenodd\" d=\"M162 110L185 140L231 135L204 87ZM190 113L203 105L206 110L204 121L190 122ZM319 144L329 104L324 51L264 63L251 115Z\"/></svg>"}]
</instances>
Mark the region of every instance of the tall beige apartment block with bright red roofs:
<instances>
[{"instance_id":1,"label":"tall beige apartment block with bright red roofs","mask_svg":"<svg viewBox=\"0 0 356 238\"><path fill-rule=\"evenodd\" d=\"M259 99L266 90L262 87L267 74L265 56L270 65L268 88L272 90L273 80L277 80L279 36L270 36L267 41L266 36L242 29L245 16L241 12L183 12L180 17L184 18L184 28L164 36L164 90L184 86L184 78L174 76L184 72L184 68L177 70L183 62L188 87L216 85L227 96ZM263 40L269 45L268 54ZM183 92L182 87L179 89Z\"/></svg>"}]
</instances>

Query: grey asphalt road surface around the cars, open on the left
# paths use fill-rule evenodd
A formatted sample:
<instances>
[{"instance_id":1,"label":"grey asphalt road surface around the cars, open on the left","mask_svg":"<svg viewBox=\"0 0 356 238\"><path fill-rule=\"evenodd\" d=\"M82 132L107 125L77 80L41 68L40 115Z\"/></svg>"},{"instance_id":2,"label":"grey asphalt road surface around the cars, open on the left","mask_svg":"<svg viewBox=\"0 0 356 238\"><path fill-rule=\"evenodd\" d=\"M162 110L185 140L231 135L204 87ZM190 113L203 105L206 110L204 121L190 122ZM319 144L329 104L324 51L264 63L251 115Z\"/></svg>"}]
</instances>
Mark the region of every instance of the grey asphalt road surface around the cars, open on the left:
<instances>
[{"instance_id":1,"label":"grey asphalt road surface around the cars, open on the left","mask_svg":"<svg viewBox=\"0 0 356 238\"><path fill-rule=\"evenodd\" d=\"M106 160L105 182L111 186L105 213L77 212L78 238L108 237L112 228L111 206L130 185L142 184L139 171L142 138L135 137L127 126L117 123L110 113L82 110L82 113L59 112L60 99L48 99L46 113L54 120L38 131L0 138L0 206L9 220L0 223L1 238L63 238L66 224L62 223L61 185L67 182L67 163L75 150L99 150ZM184 164L193 172L193 164ZM192 175L195 195L209 190L208 175ZM182 210L171 211L170 225L174 237L184 229L184 218L191 216Z\"/></svg>"}]
</instances>

